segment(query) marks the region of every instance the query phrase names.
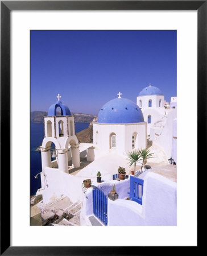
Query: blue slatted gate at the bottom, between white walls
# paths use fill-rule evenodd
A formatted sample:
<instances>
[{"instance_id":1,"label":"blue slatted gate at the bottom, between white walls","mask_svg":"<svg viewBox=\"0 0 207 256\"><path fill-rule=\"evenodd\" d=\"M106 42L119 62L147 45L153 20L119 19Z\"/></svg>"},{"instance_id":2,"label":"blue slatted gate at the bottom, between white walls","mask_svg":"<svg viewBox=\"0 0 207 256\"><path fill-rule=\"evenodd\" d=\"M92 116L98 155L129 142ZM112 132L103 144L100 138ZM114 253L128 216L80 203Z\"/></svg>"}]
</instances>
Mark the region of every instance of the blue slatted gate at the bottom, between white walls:
<instances>
[{"instance_id":1,"label":"blue slatted gate at the bottom, between white walls","mask_svg":"<svg viewBox=\"0 0 207 256\"><path fill-rule=\"evenodd\" d=\"M107 225L107 203L108 199L103 191L93 189L93 214Z\"/></svg>"}]
</instances>

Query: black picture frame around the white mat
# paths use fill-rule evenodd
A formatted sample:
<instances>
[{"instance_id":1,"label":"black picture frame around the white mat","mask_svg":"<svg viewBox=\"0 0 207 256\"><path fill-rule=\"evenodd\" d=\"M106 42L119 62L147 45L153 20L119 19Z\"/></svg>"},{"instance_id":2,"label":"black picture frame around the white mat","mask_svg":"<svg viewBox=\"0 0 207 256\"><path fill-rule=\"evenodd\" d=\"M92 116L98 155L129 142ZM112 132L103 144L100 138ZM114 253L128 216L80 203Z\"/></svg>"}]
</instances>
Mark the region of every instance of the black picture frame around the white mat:
<instances>
[{"instance_id":1,"label":"black picture frame around the white mat","mask_svg":"<svg viewBox=\"0 0 207 256\"><path fill-rule=\"evenodd\" d=\"M145 246L10 246L10 13L12 10L197 10L197 163L205 159L207 1L1 1L1 255L147 255ZM7 131L5 136L4 131ZM202 139L201 139L202 136ZM199 146L200 145L200 146ZM3 160L2 160L3 159ZM6 189L6 196L5 196ZM199 196L198 196L199 198ZM118 235L118 234L117 234ZM130 239L130 237L128 238ZM191 251L198 246L192 246ZM171 252L176 247L171 248ZM179 247L179 252L186 248ZM162 247L168 253L169 247ZM184 251L183 251L184 252Z\"/></svg>"}]
</instances>

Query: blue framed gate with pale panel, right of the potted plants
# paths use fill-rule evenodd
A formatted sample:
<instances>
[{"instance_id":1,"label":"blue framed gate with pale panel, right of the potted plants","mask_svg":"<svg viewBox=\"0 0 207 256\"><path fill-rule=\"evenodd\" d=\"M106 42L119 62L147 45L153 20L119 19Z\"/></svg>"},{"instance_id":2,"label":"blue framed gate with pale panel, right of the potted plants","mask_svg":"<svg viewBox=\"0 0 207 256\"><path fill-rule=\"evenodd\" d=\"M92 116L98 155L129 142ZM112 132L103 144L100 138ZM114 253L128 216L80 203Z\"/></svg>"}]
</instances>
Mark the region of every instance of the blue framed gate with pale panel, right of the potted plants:
<instances>
[{"instance_id":1,"label":"blue framed gate with pale panel, right of the potted plants","mask_svg":"<svg viewBox=\"0 0 207 256\"><path fill-rule=\"evenodd\" d=\"M144 180L130 176L130 199L142 205Z\"/></svg>"}]
</instances>

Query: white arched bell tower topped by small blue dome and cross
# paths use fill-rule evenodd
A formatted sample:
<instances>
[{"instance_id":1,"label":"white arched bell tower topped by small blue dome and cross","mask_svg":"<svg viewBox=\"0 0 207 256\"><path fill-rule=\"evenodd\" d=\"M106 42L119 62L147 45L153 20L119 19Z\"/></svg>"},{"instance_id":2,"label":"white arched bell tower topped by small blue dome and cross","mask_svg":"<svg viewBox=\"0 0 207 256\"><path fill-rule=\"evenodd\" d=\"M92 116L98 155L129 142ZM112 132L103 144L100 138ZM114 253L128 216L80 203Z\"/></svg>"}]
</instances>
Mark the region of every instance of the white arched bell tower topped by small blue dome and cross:
<instances>
[{"instance_id":1,"label":"white arched bell tower topped by small blue dome and cross","mask_svg":"<svg viewBox=\"0 0 207 256\"><path fill-rule=\"evenodd\" d=\"M69 160L72 160L74 168L80 167L80 151L74 130L74 116L60 98L58 94L57 102L49 107L48 115L44 117L44 139L40 147L42 170L50 167L68 173ZM53 156L57 156L55 161L51 161L52 142L55 144Z\"/></svg>"}]
</instances>

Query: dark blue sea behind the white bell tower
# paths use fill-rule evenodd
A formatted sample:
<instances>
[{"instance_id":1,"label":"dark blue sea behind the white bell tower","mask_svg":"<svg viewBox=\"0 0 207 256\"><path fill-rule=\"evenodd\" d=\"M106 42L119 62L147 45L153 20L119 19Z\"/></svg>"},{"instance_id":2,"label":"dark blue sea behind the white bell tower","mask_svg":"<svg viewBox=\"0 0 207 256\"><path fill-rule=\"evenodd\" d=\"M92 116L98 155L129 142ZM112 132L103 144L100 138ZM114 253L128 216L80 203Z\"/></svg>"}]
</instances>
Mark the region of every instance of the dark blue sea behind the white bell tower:
<instances>
[{"instance_id":1,"label":"dark blue sea behind the white bell tower","mask_svg":"<svg viewBox=\"0 0 207 256\"><path fill-rule=\"evenodd\" d=\"M89 127L90 123L75 123L75 131L78 133ZM30 123L30 195L36 194L36 191L41 188L41 179L35 179L35 175L42 172L41 153L35 151L39 147L44 138L44 123Z\"/></svg>"}]
</instances>

